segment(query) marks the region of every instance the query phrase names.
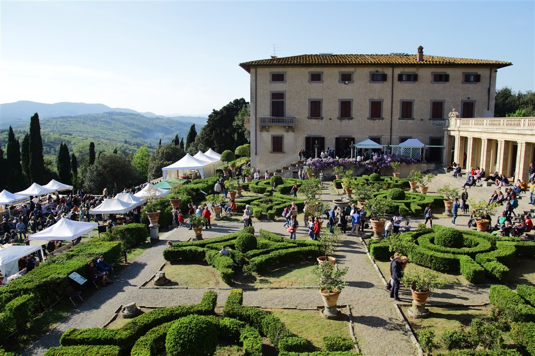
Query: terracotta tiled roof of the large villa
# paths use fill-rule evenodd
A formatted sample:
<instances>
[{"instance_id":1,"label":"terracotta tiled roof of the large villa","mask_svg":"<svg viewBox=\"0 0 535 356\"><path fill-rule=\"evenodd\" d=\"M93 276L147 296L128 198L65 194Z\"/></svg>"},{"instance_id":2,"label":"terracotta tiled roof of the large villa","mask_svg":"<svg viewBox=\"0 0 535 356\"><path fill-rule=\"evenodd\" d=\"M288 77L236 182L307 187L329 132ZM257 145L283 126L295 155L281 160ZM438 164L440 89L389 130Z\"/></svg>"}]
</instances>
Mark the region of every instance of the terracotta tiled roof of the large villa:
<instances>
[{"instance_id":1,"label":"terracotta tiled roof of the large villa","mask_svg":"<svg viewBox=\"0 0 535 356\"><path fill-rule=\"evenodd\" d=\"M409 65L409 66L495 66L498 68L512 65L511 62L486 59L454 58L428 56L418 62L416 54L301 54L300 56L261 59L243 62L240 66L249 71L256 66L325 66L325 65Z\"/></svg>"}]
</instances>

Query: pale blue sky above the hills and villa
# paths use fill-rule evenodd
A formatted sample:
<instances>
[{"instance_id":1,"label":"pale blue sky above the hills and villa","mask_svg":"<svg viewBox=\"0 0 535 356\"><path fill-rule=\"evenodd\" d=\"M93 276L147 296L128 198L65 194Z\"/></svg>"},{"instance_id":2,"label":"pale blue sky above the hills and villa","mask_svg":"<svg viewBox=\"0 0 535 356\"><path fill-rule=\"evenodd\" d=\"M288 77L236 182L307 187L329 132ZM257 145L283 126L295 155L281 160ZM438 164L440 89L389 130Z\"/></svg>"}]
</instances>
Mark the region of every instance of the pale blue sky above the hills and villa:
<instances>
[{"instance_id":1,"label":"pale blue sky above the hills and villa","mask_svg":"<svg viewBox=\"0 0 535 356\"><path fill-rule=\"evenodd\" d=\"M159 115L249 100L240 62L416 53L505 60L497 88L534 90L534 1L0 0L0 102L89 102Z\"/></svg>"}]
</instances>

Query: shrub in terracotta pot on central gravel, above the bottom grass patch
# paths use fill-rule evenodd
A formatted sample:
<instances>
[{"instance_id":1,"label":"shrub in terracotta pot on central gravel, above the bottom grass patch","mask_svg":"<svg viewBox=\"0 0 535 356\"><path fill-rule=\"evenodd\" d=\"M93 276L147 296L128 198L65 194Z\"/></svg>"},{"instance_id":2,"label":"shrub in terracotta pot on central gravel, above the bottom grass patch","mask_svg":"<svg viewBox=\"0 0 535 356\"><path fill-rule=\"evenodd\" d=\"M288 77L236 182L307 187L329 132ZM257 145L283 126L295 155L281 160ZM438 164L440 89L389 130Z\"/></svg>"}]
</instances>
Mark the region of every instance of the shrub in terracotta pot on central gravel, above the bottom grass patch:
<instances>
[{"instance_id":1,"label":"shrub in terracotta pot on central gravel, above the bottom grass patch","mask_svg":"<svg viewBox=\"0 0 535 356\"><path fill-rule=\"evenodd\" d=\"M314 268L314 274L318 278L319 294L322 295L325 305L322 314L326 318L336 318L340 313L336 306L340 292L347 286L347 282L342 278L348 269L349 267L337 268L330 263L318 264Z\"/></svg>"}]
</instances>

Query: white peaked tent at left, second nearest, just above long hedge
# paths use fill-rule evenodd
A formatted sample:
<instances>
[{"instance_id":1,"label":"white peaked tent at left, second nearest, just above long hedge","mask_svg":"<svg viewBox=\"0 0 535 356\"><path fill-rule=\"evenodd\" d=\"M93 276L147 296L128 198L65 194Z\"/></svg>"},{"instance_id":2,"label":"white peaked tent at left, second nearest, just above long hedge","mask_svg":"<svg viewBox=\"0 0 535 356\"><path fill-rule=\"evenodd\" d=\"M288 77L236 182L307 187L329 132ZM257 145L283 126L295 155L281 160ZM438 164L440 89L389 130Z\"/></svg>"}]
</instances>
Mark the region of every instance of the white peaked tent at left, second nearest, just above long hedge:
<instances>
[{"instance_id":1,"label":"white peaked tent at left, second nearest, just above long hedge","mask_svg":"<svg viewBox=\"0 0 535 356\"><path fill-rule=\"evenodd\" d=\"M32 246L41 246L50 240L73 241L87 233L91 237L91 231L97 228L97 226L97 223L86 223L84 221L62 218L56 224L29 235L28 240Z\"/></svg>"}]
</instances>

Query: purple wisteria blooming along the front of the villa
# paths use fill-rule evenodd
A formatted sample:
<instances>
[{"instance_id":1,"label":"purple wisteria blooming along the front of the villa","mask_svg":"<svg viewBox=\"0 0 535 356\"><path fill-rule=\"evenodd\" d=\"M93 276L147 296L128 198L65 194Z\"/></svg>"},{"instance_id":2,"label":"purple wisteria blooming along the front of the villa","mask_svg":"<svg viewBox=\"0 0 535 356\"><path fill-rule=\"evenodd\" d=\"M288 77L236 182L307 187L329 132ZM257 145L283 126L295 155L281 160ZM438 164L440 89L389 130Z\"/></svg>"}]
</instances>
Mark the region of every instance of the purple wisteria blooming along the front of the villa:
<instances>
[{"instance_id":1,"label":"purple wisteria blooming along the front of the villa","mask_svg":"<svg viewBox=\"0 0 535 356\"><path fill-rule=\"evenodd\" d=\"M361 168L364 167L367 170L373 171L374 169L388 169L391 167L392 162L401 162L402 164L415 164L419 162L419 157L411 158L409 156L394 156L391 154L374 155L367 161L357 162L354 158L342 158L335 160L332 157L322 158L309 158L307 166L313 171L322 171L330 168L334 168L337 165L350 169L352 167Z\"/></svg>"}]
</instances>

